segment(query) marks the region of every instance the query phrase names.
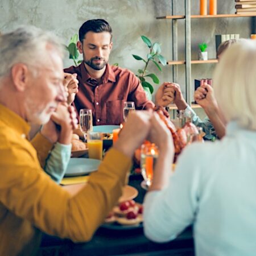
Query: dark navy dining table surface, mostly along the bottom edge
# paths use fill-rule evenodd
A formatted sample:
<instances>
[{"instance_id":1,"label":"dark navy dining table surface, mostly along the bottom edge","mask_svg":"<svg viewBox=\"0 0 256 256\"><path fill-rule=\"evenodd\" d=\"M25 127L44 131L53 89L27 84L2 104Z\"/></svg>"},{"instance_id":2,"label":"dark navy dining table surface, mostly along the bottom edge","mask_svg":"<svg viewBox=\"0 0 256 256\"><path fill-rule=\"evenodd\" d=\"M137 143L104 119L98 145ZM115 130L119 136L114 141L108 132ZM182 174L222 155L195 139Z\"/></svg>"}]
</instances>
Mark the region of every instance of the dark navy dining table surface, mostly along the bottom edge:
<instances>
[{"instance_id":1,"label":"dark navy dining table surface, mostly along the bottom edge","mask_svg":"<svg viewBox=\"0 0 256 256\"><path fill-rule=\"evenodd\" d=\"M130 175L129 185L138 190L137 203L143 203L146 190L142 188L141 175ZM77 186L77 189L81 185ZM74 187L74 186L73 186ZM70 191L70 188L67 189ZM73 188L72 188L73 189ZM72 190L71 189L71 190ZM156 216L157 217L157 216ZM73 243L70 240L43 235L40 251L55 250L54 255L195 255L192 228L188 227L173 241L156 243L148 240L143 234L143 225L134 227L108 228L100 226L92 240L84 243Z\"/></svg>"}]
</instances>

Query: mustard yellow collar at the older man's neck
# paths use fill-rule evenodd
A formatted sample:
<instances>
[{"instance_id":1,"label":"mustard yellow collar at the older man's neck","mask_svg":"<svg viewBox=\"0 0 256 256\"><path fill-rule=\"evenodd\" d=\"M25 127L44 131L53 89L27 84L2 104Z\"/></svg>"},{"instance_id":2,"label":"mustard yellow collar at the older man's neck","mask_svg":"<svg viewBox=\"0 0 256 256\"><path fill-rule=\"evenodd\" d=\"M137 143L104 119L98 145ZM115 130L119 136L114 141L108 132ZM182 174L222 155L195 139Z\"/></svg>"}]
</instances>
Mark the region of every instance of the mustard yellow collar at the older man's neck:
<instances>
[{"instance_id":1,"label":"mustard yellow collar at the older man's neck","mask_svg":"<svg viewBox=\"0 0 256 256\"><path fill-rule=\"evenodd\" d=\"M2 104L0 104L0 120L8 127L16 130L24 138L27 137L31 129L23 118Z\"/></svg>"}]
</instances>

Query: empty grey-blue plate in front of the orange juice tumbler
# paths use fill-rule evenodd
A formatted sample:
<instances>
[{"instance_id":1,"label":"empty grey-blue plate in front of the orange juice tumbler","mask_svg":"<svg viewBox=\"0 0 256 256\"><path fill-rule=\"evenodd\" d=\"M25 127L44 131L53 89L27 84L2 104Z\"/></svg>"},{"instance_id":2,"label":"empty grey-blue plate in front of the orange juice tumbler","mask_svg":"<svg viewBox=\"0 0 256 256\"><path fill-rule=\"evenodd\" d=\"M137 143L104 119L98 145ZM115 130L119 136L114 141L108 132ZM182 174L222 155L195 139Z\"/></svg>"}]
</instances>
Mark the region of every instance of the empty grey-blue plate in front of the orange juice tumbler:
<instances>
[{"instance_id":1,"label":"empty grey-blue plate in front of the orange juice tumbler","mask_svg":"<svg viewBox=\"0 0 256 256\"><path fill-rule=\"evenodd\" d=\"M65 177L90 174L98 170L101 160L89 158L71 158L68 163Z\"/></svg>"}]
</instances>

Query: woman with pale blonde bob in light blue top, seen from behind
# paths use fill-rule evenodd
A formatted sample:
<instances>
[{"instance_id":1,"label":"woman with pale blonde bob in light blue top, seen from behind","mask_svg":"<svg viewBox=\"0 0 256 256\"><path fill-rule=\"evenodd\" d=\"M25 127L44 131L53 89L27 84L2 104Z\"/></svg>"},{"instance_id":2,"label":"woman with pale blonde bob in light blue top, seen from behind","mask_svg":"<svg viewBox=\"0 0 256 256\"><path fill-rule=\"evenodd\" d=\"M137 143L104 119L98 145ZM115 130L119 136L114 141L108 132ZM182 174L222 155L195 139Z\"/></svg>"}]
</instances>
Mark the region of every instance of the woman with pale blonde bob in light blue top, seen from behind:
<instances>
[{"instance_id":1,"label":"woman with pale blonde bob in light blue top, seen from behind","mask_svg":"<svg viewBox=\"0 0 256 256\"><path fill-rule=\"evenodd\" d=\"M144 233L173 240L193 224L196 255L256 253L256 43L234 44L214 73L214 92L226 135L194 143L171 175L174 148L166 127L159 132L159 158L144 200Z\"/></svg>"}]
</instances>

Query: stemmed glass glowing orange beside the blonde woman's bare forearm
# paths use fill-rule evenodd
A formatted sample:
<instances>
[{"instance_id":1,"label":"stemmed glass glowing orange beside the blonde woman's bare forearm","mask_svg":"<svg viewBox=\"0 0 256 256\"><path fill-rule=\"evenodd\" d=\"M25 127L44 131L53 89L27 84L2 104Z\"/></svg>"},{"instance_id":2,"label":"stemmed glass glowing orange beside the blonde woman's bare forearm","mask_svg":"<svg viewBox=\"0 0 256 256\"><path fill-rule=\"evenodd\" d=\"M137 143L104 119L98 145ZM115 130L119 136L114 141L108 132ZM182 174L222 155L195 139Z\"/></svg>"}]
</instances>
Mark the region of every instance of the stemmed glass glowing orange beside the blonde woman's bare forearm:
<instances>
[{"instance_id":1,"label":"stemmed glass glowing orange beside the blonde woman's bare forearm","mask_svg":"<svg viewBox=\"0 0 256 256\"><path fill-rule=\"evenodd\" d=\"M141 146L141 174L148 187L152 184L154 167L158 154L158 146L154 143L143 144Z\"/></svg>"}]
</instances>

